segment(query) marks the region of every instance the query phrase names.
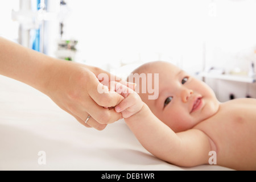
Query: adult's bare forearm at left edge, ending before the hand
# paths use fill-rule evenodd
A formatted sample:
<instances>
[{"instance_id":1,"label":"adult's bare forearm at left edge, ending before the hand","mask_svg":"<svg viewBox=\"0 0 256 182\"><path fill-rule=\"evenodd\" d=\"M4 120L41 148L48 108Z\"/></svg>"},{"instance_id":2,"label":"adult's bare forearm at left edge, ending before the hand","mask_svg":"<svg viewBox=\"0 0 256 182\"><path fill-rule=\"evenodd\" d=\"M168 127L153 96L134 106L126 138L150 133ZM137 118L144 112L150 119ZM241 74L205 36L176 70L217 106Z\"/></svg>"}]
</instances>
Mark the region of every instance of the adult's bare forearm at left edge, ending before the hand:
<instances>
[{"instance_id":1,"label":"adult's bare forearm at left edge, ending before the hand","mask_svg":"<svg viewBox=\"0 0 256 182\"><path fill-rule=\"evenodd\" d=\"M52 57L0 37L0 74L42 90Z\"/></svg>"}]
</instances>

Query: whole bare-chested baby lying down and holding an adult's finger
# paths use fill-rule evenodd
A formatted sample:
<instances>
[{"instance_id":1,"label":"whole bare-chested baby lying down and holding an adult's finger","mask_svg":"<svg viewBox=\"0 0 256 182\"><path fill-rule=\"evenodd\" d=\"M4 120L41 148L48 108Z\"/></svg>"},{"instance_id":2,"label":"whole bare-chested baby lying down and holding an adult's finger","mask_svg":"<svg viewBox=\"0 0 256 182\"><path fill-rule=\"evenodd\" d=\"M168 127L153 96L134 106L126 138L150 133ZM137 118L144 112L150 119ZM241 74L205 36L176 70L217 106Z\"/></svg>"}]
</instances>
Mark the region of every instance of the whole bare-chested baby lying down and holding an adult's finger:
<instances>
[{"instance_id":1,"label":"whole bare-chested baby lying down and holding an adult's finger","mask_svg":"<svg viewBox=\"0 0 256 182\"><path fill-rule=\"evenodd\" d=\"M115 111L151 154L183 167L213 162L256 169L256 99L220 103L203 81L164 61L144 64L133 73L159 73L154 80L159 96L149 100L150 93L136 93L116 82L115 91L124 99Z\"/></svg>"}]
</instances>

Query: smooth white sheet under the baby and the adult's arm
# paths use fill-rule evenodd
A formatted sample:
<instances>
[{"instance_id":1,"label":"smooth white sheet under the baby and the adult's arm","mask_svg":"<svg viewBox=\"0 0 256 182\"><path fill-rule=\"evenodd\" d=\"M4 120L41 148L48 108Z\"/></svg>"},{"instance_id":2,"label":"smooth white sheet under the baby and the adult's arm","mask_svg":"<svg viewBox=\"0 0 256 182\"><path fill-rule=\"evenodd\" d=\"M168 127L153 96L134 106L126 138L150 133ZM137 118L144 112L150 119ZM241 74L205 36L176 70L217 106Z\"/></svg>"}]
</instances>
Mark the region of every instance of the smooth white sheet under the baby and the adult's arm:
<instances>
[{"instance_id":1,"label":"smooth white sheet under the baby and the adult's arm","mask_svg":"<svg viewBox=\"0 0 256 182\"><path fill-rule=\"evenodd\" d=\"M39 164L38 152L46 164ZM82 126L38 90L0 76L0 170L229 170L181 168L147 152L123 120Z\"/></svg>"}]
</instances>

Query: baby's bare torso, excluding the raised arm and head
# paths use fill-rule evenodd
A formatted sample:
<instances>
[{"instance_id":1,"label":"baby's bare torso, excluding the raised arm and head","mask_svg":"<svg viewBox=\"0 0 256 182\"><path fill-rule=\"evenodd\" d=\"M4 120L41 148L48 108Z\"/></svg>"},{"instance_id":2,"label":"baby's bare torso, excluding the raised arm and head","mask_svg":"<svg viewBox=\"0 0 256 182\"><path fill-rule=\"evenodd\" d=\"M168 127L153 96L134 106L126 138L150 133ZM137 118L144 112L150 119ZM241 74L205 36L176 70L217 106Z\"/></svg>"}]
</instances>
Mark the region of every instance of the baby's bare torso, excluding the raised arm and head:
<instances>
[{"instance_id":1,"label":"baby's bare torso, excluding the raised arm and head","mask_svg":"<svg viewBox=\"0 0 256 182\"><path fill-rule=\"evenodd\" d=\"M213 117L195 127L213 140L219 164L236 169L256 167L255 111L256 99L231 100L221 104Z\"/></svg>"}]
</instances>

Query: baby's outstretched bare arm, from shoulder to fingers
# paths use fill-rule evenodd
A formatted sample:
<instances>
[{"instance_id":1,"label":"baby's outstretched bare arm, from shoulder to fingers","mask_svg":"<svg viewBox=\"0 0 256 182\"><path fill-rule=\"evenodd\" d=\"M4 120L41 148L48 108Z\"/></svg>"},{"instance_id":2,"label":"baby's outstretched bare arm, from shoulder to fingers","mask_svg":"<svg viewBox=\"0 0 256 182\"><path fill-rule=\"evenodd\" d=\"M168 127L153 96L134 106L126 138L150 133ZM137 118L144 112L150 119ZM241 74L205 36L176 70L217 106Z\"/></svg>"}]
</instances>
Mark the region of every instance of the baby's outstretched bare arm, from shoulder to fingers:
<instances>
[{"instance_id":1,"label":"baby's outstretched bare arm, from shoulder to fingers","mask_svg":"<svg viewBox=\"0 0 256 182\"><path fill-rule=\"evenodd\" d=\"M207 135L196 129L174 133L155 117L137 93L131 89L129 93L122 93L124 90L117 89L125 99L115 110L122 113L125 122L146 150L178 166L208 163L210 144Z\"/></svg>"}]
</instances>

